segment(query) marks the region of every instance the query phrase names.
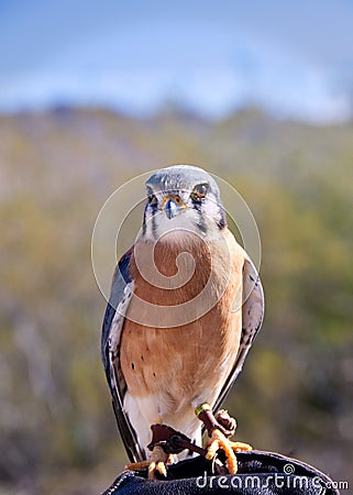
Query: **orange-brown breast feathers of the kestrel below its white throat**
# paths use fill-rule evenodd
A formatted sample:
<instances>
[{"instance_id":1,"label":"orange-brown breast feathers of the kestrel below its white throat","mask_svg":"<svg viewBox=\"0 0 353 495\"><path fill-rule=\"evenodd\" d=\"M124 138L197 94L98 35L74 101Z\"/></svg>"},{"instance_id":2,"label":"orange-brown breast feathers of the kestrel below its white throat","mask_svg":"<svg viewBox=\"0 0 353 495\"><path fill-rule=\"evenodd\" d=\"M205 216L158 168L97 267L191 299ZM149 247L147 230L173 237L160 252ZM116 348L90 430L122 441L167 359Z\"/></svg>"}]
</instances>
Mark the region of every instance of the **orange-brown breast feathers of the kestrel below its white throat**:
<instances>
[{"instance_id":1,"label":"orange-brown breast feathers of the kestrel below its white throat","mask_svg":"<svg viewBox=\"0 0 353 495\"><path fill-rule=\"evenodd\" d=\"M243 264L244 252L227 229L207 243L187 233L166 235L154 250L136 243L130 264L135 289L120 348L132 396L165 391L176 407L210 384L213 392L220 387L240 343Z\"/></svg>"}]
</instances>

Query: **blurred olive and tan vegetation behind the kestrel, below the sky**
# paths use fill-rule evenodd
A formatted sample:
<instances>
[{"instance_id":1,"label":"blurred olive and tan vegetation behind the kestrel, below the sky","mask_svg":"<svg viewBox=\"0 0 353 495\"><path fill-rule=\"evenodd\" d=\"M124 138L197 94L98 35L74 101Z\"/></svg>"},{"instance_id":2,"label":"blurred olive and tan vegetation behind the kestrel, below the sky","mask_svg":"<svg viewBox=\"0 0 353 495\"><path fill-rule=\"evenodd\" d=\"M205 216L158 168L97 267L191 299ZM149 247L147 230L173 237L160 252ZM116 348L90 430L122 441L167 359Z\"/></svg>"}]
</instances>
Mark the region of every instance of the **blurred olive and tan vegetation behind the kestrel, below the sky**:
<instances>
[{"instance_id":1,"label":"blurred olive and tan vegetation behind the kestrel, below the sky","mask_svg":"<svg viewBox=\"0 0 353 495\"><path fill-rule=\"evenodd\" d=\"M123 468L90 239L118 186L173 163L229 180L261 232L265 322L227 402L238 438L350 480L352 122L57 107L1 116L0 163L0 493L97 494Z\"/></svg>"}]
</instances>

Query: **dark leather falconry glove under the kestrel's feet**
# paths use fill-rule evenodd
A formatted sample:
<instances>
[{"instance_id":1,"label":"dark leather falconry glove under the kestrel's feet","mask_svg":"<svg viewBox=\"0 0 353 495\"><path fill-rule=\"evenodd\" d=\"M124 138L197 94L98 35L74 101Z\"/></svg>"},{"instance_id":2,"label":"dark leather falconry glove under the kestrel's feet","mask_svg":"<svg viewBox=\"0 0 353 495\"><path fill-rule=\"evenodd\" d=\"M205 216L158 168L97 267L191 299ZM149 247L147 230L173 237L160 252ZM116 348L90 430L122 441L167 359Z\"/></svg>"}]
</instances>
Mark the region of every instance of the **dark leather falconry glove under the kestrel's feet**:
<instances>
[{"instance_id":1,"label":"dark leather falconry glove under the kestrel's feet","mask_svg":"<svg viewBox=\"0 0 353 495\"><path fill-rule=\"evenodd\" d=\"M167 480L147 480L147 470L124 471L103 495L339 495L329 476L274 452L238 452L235 475L214 475L212 461L198 455L168 465Z\"/></svg>"}]
</instances>

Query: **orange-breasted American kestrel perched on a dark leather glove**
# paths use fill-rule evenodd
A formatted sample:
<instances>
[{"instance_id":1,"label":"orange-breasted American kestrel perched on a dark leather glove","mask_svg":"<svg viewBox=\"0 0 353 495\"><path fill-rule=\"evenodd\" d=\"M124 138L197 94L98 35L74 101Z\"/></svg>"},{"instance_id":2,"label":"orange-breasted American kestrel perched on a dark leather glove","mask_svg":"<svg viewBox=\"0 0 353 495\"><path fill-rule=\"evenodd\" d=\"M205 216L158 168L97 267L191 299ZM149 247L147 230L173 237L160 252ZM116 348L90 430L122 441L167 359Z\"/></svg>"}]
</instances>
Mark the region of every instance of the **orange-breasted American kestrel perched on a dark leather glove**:
<instances>
[{"instance_id":1,"label":"orange-breasted American kestrel perched on a dark leather glove","mask_svg":"<svg viewBox=\"0 0 353 495\"><path fill-rule=\"evenodd\" d=\"M101 353L129 458L155 466L165 459L147 449L151 426L201 441L195 410L216 410L227 396L262 324L264 296L207 172L163 168L146 191L141 233L113 276ZM211 435L210 457L222 447L232 464L229 440Z\"/></svg>"}]
</instances>

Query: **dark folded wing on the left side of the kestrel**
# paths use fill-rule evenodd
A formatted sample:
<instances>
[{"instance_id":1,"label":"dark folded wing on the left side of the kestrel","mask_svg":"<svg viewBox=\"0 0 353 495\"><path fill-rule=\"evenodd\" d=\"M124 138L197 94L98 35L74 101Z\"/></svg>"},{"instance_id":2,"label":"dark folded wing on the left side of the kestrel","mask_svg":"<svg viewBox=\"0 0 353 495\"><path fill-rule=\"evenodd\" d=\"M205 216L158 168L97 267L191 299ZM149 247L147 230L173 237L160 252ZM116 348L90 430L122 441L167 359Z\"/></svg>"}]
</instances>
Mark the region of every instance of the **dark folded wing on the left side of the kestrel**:
<instances>
[{"instance_id":1,"label":"dark folded wing on the left side of the kestrel","mask_svg":"<svg viewBox=\"0 0 353 495\"><path fill-rule=\"evenodd\" d=\"M134 289L134 283L129 273L131 254L132 250L121 257L114 272L102 327L101 359L122 441L131 462L139 462L145 459L145 454L139 444L135 430L124 411L126 382L120 365L120 342L125 321L124 315Z\"/></svg>"}]
</instances>

